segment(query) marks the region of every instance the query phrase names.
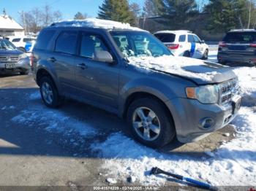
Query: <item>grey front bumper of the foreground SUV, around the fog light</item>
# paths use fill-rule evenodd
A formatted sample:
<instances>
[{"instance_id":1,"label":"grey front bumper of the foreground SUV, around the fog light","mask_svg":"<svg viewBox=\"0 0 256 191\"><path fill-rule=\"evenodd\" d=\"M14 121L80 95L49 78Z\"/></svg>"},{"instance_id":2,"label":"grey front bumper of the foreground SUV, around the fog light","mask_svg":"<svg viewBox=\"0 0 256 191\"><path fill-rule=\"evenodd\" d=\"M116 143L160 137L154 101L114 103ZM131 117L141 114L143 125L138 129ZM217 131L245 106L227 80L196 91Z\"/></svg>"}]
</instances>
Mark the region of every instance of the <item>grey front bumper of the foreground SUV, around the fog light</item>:
<instances>
[{"instance_id":1,"label":"grey front bumper of the foreground SUV, around the fog light","mask_svg":"<svg viewBox=\"0 0 256 191\"><path fill-rule=\"evenodd\" d=\"M201 104L197 100L174 98L166 102L176 126L178 141L188 143L198 141L231 122L236 113L232 114L233 106L219 104ZM211 118L214 125L211 128L201 128L202 119Z\"/></svg>"}]
</instances>

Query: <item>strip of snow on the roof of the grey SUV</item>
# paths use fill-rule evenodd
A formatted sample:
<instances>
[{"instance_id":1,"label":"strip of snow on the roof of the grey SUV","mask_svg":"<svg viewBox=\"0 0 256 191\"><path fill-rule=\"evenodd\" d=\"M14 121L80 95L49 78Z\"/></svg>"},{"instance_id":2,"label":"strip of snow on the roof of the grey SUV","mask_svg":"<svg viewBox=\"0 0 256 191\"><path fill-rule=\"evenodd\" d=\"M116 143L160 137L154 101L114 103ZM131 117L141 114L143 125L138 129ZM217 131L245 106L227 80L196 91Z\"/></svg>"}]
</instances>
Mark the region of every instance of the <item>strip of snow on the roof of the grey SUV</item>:
<instances>
[{"instance_id":1,"label":"strip of snow on the roof of the grey SUV","mask_svg":"<svg viewBox=\"0 0 256 191\"><path fill-rule=\"evenodd\" d=\"M53 23L51 26L74 26L89 28L105 28L105 29L127 29L133 31L143 31L140 28L132 27L129 23L120 23L113 20L102 20L97 18L86 18L85 20L62 20Z\"/></svg>"}]
</instances>

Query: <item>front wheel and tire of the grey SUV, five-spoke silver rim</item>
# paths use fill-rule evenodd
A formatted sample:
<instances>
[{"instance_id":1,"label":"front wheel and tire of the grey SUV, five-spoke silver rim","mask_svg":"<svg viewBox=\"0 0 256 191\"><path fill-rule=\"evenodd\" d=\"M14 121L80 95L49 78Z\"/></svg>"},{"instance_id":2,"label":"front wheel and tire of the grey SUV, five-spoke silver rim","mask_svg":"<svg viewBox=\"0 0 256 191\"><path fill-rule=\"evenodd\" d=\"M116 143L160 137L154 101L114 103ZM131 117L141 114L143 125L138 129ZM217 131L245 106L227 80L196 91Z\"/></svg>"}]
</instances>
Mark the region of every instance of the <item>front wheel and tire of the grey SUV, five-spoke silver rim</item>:
<instances>
[{"instance_id":1,"label":"front wheel and tire of the grey SUV, five-spoke silver rim","mask_svg":"<svg viewBox=\"0 0 256 191\"><path fill-rule=\"evenodd\" d=\"M169 111L156 98L140 98L132 102L127 122L135 139L148 147L163 147L176 135Z\"/></svg>"}]
</instances>

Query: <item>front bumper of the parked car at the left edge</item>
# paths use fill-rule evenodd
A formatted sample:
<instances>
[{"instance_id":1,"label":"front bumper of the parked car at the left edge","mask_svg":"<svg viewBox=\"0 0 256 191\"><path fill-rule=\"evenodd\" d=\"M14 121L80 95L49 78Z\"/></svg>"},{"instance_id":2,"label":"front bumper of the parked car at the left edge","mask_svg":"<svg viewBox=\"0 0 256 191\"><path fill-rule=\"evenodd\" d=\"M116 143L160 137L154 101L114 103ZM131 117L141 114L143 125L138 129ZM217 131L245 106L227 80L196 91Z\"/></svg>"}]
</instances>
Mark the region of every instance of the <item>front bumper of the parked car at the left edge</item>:
<instances>
[{"instance_id":1,"label":"front bumper of the parked car at the left edge","mask_svg":"<svg viewBox=\"0 0 256 191\"><path fill-rule=\"evenodd\" d=\"M7 74L7 73L16 73L20 71L29 71L30 63L29 63L29 57L20 59L18 62L13 63L14 68L7 69L6 63L0 62L0 74Z\"/></svg>"}]
</instances>

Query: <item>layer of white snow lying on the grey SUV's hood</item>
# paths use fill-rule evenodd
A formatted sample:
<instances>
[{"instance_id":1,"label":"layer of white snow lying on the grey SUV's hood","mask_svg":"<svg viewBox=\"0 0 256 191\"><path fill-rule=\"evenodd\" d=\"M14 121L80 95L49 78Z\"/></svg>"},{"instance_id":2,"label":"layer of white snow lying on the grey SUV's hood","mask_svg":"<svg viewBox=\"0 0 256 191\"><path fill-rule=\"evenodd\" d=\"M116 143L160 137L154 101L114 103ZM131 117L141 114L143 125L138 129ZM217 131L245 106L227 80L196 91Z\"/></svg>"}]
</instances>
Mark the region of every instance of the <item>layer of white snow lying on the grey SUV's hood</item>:
<instances>
[{"instance_id":1,"label":"layer of white snow lying on the grey SUV's hood","mask_svg":"<svg viewBox=\"0 0 256 191\"><path fill-rule=\"evenodd\" d=\"M153 56L141 56L129 57L128 59L130 64L136 66L138 69L143 69L144 71L157 69L171 74L204 79L207 81L212 81L214 75L218 74L217 70L214 70L214 67L209 68L204 61L193 58L163 55L157 58Z\"/></svg>"}]
</instances>

